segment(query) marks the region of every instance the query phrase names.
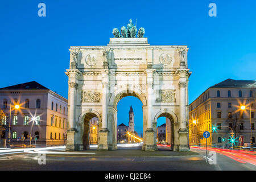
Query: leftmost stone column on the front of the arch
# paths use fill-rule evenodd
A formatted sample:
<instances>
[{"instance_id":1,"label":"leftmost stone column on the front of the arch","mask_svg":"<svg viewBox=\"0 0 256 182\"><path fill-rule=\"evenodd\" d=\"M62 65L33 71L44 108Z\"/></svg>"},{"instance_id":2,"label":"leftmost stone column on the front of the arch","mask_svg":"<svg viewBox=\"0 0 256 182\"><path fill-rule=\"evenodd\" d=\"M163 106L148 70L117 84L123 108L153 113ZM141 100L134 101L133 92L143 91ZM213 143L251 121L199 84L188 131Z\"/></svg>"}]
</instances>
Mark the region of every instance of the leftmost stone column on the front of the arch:
<instances>
[{"instance_id":1,"label":"leftmost stone column on the front of the arch","mask_svg":"<svg viewBox=\"0 0 256 182\"><path fill-rule=\"evenodd\" d=\"M75 135L77 133L77 130L75 128L75 113L76 113L76 89L77 89L77 83L75 81L69 82L69 115L68 115L68 121L69 121L69 129L67 131L67 145L66 150L77 150L76 147L76 141L75 141Z\"/></svg>"}]
</instances>

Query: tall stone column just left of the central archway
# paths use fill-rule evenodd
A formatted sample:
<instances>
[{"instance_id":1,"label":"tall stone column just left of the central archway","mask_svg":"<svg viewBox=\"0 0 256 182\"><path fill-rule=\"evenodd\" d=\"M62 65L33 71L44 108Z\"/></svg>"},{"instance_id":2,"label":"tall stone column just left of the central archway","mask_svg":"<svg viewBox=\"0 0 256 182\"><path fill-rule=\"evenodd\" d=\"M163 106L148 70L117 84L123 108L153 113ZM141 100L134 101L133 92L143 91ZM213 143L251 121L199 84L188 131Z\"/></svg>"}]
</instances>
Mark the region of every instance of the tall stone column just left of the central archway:
<instances>
[{"instance_id":1,"label":"tall stone column just left of the central archway","mask_svg":"<svg viewBox=\"0 0 256 182\"><path fill-rule=\"evenodd\" d=\"M109 130L108 130L108 93L109 74L108 69L104 69L102 74L102 128L99 131L98 150L109 150Z\"/></svg>"}]
</instances>

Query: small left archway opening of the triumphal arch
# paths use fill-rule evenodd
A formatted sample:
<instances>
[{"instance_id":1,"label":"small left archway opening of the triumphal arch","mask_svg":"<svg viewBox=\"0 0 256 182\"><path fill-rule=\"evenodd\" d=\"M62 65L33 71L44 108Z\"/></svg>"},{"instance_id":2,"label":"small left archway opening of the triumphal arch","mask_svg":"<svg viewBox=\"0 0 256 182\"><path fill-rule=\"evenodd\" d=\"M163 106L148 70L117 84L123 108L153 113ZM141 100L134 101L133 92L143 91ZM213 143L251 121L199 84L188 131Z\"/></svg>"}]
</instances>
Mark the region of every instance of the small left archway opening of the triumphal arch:
<instances>
[{"instance_id":1,"label":"small left archway opening of the triumphal arch","mask_svg":"<svg viewBox=\"0 0 256 182\"><path fill-rule=\"evenodd\" d=\"M82 146L84 150L97 148L98 144L98 117L94 113L86 113L84 117L84 133L82 135Z\"/></svg>"}]
</instances>

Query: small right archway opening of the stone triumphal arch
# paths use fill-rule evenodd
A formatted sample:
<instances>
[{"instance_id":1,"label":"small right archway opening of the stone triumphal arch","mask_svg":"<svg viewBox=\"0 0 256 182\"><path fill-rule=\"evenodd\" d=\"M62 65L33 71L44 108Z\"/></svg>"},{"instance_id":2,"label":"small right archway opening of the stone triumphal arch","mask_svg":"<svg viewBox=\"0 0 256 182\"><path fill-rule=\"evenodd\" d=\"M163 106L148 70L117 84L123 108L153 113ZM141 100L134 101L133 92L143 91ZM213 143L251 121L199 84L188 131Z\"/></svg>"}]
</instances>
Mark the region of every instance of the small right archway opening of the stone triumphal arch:
<instances>
[{"instance_id":1,"label":"small right archway opening of the stone triumphal arch","mask_svg":"<svg viewBox=\"0 0 256 182\"><path fill-rule=\"evenodd\" d=\"M174 118L170 113L162 113L156 120L156 144L158 150L174 149Z\"/></svg>"}]
</instances>

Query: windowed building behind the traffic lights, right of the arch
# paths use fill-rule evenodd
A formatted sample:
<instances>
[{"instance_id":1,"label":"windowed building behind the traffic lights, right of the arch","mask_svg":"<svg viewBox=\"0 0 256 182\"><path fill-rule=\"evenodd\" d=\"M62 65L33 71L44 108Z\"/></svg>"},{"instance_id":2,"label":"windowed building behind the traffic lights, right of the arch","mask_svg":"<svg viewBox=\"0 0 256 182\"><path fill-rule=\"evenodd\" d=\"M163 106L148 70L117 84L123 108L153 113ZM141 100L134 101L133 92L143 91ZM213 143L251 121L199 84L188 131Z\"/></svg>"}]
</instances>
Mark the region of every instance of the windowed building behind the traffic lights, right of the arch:
<instances>
[{"instance_id":1,"label":"windowed building behind the traffic lights, right of the arch","mask_svg":"<svg viewBox=\"0 0 256 182\"><path fill-rule=\"evenodd\" d=\"M210 86L189 105L189 144L204 145L203 133L209 131L209 145L231 146L234 133L236 144L244 146L250 143L251 127L255 144L255 94L254 80L227 79Z\"/></svg>"}]
</instances>

